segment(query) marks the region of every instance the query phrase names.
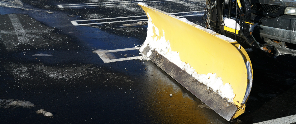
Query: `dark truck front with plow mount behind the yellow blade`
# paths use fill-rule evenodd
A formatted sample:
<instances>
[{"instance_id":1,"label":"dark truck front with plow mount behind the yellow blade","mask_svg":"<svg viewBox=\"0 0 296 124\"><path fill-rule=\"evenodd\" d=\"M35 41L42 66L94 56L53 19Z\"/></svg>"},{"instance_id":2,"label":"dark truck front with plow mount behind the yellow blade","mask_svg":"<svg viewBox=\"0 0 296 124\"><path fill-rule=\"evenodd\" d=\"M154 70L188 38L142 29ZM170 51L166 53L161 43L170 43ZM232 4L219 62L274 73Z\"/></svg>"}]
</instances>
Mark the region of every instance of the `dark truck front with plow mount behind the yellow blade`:
<instances>
[{"instance_id":1,"label":"dark truck front with plow mount behind the yellow blade","mask_svg":"<svg viewBox=\"0 0 296 124\"><path fill-rule=\"evenodd\" d=\"M270 56L296 56L296 0L208 0L206 3L208 12L204 20L208 28ZM236 20L237 30L227 27L227 19Z\"/></svg>"}]
</instances>

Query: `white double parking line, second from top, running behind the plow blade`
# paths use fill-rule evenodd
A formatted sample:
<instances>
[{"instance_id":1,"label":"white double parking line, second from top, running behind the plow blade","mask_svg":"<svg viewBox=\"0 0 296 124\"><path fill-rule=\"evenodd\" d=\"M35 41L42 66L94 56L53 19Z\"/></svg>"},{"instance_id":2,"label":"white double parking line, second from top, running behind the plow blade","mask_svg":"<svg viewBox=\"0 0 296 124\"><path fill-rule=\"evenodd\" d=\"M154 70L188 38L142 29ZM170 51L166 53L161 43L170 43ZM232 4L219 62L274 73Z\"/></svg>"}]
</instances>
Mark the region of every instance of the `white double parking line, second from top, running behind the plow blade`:
<instances>
[{"instance_id":1,"label":"white double parking line, second from top, running behind the plow blade","mask_svg":"<svg viewBox=\"0 0 296 124\"><path fill-rule=\"evenodd\" d=\"M204 15L204 14L181 15L181 16L178 16L178 17L198 16L198 15ZM129 16L129 17L117 17L117 18L115 18L115 19L118 19L118 18L131 18L131 17L143 17L143 16L146 16L146 15L141 15L141 16ZM112 18L106 18L106 19L112 19ZM103 20L103 19L94 19L94 20ZM123 21L109 21L109 22L97 22L97 23L87 23L87 24L78 24L78 23L77 23L78 21L87 21L87 20L75 20L75 21L71 21L71 23L72 23L74 26L77 26L77 25L106 24L106 23L117 23L117 22L142 21L142 20L148 20L148 19L123 20ZM90 20L88 20L88 21L90 21Z\"/></svg>"}]
</instances>

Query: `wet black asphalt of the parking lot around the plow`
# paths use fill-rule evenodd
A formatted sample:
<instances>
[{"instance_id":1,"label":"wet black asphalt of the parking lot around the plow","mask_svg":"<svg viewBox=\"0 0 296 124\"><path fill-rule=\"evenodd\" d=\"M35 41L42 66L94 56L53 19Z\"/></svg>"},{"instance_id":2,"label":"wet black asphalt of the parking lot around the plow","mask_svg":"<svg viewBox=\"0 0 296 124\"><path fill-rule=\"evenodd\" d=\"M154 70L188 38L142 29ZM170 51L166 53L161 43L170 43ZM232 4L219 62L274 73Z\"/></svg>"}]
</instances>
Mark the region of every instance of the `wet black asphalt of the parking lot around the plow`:
<instances>
[{"instance_id":1,"label":"wet black asphalt of the parking lot around the plow","mask_svg":"<svg viewBox=\"0 0 296 124\"><path fill-rule=\"evenodd\" d=\"M1 122L233 123L209 109L150 60L104 63L92 51L140 45L145 41L147 25L122 26L137 22L134 21L74 26L70 21L138 16L145 12L136 4L57 6L93 2L115 1L0 2ZM147 4L168 13L199 11L204 7L203 1ZM16 18L19 21L12 21ZM201 16L186 18L202 25ZM83 23L91 22L102 21ZM13 23L21 26L15 29ZM36 54L52 56L33 56ZM113 54L115 58L125 58L124 54L139 56L136 50ZM260 51L248 54L254 83L246 113L237 119L247 124L296 114L295 57L273 59ZM5 103L11 99L24 104ZM25 106L28 102L34 105ZM37 114L39 109L53 116Z\"/></svg>"}]
</instances>

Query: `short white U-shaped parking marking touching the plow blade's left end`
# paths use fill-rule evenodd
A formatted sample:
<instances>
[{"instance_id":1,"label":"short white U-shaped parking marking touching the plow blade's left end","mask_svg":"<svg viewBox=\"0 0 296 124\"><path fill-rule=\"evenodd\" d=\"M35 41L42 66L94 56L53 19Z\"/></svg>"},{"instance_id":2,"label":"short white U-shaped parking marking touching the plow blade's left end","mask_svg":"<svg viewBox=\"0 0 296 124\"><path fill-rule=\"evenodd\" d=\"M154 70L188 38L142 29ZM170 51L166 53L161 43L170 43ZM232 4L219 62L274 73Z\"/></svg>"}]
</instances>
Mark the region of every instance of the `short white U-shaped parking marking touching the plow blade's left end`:
<instances>
[{"instance_id":1,"label":"short white U-shaped parking marking touching the plow blade's left end","mask_svg":"<svg viewBox=\"0 0 296 124\"><path fill-rule=\"evenodd\" d=\"M129 51L129 50L138 50L141 47L132 47L132 48L125 48L125 49L117 49L117 50L96 50L98 52L93 51L94 53L97 53L100 58L103 60L104 63L110 63L110 62L118 62L118 61L125 61L125 60L136 60L142 58L142 56L134 56L134 57L127 57L127 58L120 58L120 59L112 59L110 60L107 56L110 52L118 52L118 51Z\"/></svg>"}]
</instances>

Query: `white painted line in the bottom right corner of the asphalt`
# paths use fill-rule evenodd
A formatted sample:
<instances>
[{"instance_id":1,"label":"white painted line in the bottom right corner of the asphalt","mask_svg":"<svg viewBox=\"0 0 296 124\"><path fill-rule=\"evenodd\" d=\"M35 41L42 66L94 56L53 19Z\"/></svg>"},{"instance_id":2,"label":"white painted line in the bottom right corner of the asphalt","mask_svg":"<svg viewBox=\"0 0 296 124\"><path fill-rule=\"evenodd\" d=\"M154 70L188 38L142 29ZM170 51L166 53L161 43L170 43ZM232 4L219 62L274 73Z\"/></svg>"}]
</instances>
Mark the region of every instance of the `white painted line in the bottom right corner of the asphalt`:
<instances>
[{"instance_id":1,"label":"white painted line in the bottom right corner of the asphalt","mask_svg":"<svg viewBox=\"0 0 296 124\"><path fill-rule=\"evenodd\" d=\"M295 122L296 122L296 115L291 115L287 117L281 117L281 118L254 123L254 124L291 124Z\"/></svg>"}]
</instances>

